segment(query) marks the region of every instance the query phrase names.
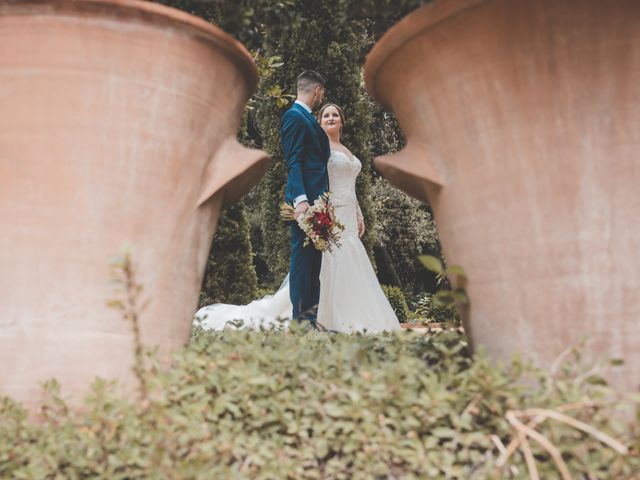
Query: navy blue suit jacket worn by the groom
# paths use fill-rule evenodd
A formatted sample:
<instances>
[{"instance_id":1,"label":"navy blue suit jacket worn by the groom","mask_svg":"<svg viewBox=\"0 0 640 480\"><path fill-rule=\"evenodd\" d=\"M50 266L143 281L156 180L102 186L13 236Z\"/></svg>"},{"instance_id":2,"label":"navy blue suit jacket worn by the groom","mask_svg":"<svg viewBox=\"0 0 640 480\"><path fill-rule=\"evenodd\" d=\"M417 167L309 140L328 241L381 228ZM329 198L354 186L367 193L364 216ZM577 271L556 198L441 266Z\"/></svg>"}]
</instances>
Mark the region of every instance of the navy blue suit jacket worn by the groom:
<instances>
[{"instance_id":1,"label":"navy blue suit jacket worn by the groom","mask_svg":"<svg viewBox=\"0 0 640 480\"><path fill-rule=\"evenodd\" d=\"M298 196L306 195L313 205L329 190L329 137L313 115L297 103L282 116L280 134L288 166L285 200L293 204Z\"/></svg>"}]
</instances>

